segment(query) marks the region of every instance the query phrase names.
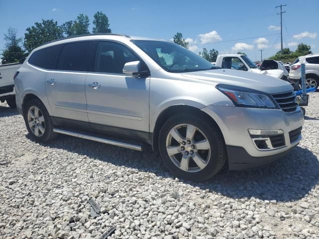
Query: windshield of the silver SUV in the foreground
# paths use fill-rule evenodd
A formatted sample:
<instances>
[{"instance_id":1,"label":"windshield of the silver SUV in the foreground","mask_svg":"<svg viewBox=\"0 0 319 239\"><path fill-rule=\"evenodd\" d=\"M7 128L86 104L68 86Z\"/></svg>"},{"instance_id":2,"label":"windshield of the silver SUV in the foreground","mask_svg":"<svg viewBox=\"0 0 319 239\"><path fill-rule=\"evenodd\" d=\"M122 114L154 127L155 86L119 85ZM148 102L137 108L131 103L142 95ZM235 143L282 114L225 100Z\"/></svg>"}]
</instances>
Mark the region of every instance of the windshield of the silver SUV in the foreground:
<instances>
[{"instance_id":1,"label":"windshield of the silver SUV in the foreground","mask_svg":"<svg viewBox=\"0 0 319 239\"><path fill-rule=\"evenodd\" d=\"M219 69L199 55L167 41L132 40L165 71L180 73Z\"/></svg>"}]
</instances>

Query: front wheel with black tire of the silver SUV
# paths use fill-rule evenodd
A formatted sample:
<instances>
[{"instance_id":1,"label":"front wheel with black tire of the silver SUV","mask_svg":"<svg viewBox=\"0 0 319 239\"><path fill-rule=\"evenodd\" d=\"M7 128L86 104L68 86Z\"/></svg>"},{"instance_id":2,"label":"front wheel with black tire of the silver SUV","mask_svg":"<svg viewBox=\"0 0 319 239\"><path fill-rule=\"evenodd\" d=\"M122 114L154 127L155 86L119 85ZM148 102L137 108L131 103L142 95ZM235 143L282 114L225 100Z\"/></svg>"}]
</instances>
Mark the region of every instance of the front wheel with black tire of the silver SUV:
<instances>
[{"instance_id":1,"label":"front wheel with black tire of the silver SUV","mask_svg":"<svg viewBox=\"0 0 319 239\"><path fill-rule=\"evenodd\" d=\"M195 133L186 133L188 129ZM178 137L179 141L175 139ZM187 142L187 139L191 141ZM192 181L213 177L225 164L227 155L219 129L209 120L187 113L172 116L164 122L159 134L159 149L164 164L172 174Z\"/></svg>"}]
</instances>

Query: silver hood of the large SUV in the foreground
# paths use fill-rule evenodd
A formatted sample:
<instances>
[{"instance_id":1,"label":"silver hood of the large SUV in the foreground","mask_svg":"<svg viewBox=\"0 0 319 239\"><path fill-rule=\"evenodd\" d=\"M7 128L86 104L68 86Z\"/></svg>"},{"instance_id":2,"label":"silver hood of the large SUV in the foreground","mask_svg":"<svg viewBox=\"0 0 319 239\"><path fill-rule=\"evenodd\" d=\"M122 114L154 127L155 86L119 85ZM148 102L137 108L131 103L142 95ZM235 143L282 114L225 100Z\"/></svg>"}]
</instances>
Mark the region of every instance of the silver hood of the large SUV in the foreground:
<instances>
[{"instance_id":1,"label":"silver hood of the large SUV in the foreground","mask_svg":"<svg viewBox=\"0 0 319 239\"><path fill-rule=\"evenodd\" d=\"M213 84L228 84L232 86L241 86L267 92L270 94L292 91L290 83L267 76L246 71L237 71L231 69L217 69L208 71L195 71L182 73L184 77L203 80Z\"/></svg>"}]
</instances>

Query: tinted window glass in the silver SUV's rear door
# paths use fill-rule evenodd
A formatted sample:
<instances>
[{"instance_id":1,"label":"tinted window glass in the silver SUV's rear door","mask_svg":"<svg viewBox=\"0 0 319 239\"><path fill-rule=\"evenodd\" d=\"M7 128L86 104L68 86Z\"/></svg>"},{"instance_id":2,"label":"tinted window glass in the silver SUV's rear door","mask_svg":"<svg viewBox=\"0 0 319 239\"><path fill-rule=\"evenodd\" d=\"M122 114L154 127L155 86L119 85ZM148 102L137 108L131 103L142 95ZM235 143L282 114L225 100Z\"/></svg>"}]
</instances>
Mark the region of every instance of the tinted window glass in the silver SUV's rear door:
<instances>
[{"instance_id":1,"label":"tinted window glass in the silver SUV's rear door","mask_svg":"<svg viewBox=\"0 0 319 239\"><path fill-rule=\"evenodd\" d=\"M92 41L65 44L59 57L57 70L87 71L86 61Z\"/></svg>"}]
</instances>

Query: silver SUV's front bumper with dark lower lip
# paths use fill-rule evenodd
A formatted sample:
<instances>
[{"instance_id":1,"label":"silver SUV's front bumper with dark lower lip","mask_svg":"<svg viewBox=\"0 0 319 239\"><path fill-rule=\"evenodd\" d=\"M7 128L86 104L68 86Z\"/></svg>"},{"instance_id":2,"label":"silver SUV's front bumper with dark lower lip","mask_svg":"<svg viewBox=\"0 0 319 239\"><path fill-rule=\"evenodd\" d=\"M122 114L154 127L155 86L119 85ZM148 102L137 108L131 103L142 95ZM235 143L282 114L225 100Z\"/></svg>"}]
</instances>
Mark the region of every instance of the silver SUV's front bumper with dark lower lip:
<instances>
[{"instance_id":1,"label":"silver SUV's front bumper with dark lower lip","mask_svg":"<svg viewBox=\"0 0 319 239\"><path fill-rule=\"evenodd\" d=\"M293 113L282 110L243 107L207 106L201 109L216 121L227 145L230 169L251 169L267 165L295 147L298 140L290 142L289 132L304 124L300 107ZM258 149L248 129L281 129L285 144L269 150ZM241 148L241 149L239 149ZM239 164L243 164L239 166ZM235 165L237 165L235 167Z\"/></svg>"}]
</instances>

